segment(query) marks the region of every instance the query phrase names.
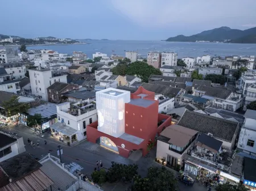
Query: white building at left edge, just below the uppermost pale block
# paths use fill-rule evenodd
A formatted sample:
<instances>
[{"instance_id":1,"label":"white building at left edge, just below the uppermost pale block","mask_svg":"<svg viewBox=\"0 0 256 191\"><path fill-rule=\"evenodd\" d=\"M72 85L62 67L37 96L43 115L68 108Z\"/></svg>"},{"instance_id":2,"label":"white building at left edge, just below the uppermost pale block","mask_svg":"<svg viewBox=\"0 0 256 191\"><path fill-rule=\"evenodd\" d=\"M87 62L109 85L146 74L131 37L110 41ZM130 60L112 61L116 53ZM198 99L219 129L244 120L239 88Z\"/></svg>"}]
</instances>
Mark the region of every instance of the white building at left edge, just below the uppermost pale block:
<instances>
[{"instance_id":1,"label":"white building at left edge, just below the uppermost pale block","mask_svg":"<svg viewBox=\"0 0 256 191\"><path fill-rule=\"evenodd\" d=\"M0 65L0 67L5 68L6 73L13 75L14 79L24 78L27 71L26 66L22 62L5 63Z\"/></svg>"}]
</instances>

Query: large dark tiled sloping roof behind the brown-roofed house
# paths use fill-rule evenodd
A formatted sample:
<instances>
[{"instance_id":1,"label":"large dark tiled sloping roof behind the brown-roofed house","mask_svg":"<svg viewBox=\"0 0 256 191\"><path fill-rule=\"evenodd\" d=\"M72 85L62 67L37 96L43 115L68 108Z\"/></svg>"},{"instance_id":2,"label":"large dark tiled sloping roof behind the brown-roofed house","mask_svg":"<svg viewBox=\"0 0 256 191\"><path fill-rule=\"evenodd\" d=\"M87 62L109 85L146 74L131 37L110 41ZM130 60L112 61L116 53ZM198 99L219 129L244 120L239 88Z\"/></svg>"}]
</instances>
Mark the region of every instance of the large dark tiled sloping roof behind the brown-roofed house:
<instances>
[{"instance_id":1,"label":"large dark tiled sloping roof behind the brown-roofed house","mask_svg":"<svg viewBox=\"0 0 256 191\"><path fill-rule=\"evenodd\" d=\"M226 142L232 142L233 137L236 137L235 133L239 129L238 122L191 111L185 111L178 125L197 130L200 133L211 133L214 138Z\"/></svg>"}]
</instances>

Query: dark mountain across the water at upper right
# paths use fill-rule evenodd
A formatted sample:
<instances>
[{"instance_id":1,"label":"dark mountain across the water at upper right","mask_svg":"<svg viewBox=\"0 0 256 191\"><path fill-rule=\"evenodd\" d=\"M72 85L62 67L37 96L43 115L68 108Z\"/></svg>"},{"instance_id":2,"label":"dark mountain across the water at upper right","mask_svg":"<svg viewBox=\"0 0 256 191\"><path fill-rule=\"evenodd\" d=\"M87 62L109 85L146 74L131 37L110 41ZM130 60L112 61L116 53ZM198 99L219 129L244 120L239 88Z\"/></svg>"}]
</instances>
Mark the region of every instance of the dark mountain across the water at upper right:
<instances>
[{"instance_id":1,"label":"dark mountain across the water at upper right","mask_svg":"<svg viewBox=\"0 0 256 191\"><path fill-rule=\"evenodd\" d=\"M166 41L174 42L195 42L195 41L220 41L230 40L230 43L256 43L256 27L249 28L244 31L239 29L231 29L229 27L214 28L212 30L203 31L196 35L184 36L178 35L170 37Z\"/></svg>"}]
</instances>

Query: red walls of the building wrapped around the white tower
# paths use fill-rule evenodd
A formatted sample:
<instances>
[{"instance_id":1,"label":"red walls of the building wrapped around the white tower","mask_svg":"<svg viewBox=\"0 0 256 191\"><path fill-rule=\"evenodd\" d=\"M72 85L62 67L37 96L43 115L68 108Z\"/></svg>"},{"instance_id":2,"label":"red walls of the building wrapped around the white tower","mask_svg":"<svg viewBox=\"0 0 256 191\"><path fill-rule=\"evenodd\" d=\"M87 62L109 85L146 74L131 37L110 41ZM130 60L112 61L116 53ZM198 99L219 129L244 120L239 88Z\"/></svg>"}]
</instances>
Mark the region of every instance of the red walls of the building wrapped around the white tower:
<instances>
[{"instance_id":1,"label":"red walls of the building wrapped around the white tower","mask_svg":"<svg viewBox=\"0 0 256 191\"><path fill-rule=\"evenodd\" d=\"M154 92L139 87L136 92L131 94L131 99L151 100L151 104L147 107L131 103L125 104L125 133L144 139L141 144L136 145L135 143L98 131L98 122L94 122L86 127L88 141L96 143L99 137L107 137L118 147L119 154L126 158L129 157L132 150L142 150L143 156L146 155L148 152L148 141L150 139L154 141L156 135L161 133L163 128L171 125L170 116L158 113L158 101L154 100L154 97ZM125 148L121 146L122 144L125 145Z\"/></svg>"}]
</instances>

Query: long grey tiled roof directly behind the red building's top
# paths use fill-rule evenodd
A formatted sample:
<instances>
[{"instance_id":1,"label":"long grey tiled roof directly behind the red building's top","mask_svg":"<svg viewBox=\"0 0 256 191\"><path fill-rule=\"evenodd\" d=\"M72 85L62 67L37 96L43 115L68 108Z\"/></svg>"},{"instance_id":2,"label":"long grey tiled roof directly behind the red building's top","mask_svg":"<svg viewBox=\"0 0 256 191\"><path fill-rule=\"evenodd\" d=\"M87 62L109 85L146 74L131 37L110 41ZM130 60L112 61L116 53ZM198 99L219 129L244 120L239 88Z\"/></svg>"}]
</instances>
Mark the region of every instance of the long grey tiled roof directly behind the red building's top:
<instances>
[{"instance_id":1,"label":"long grey tiled roof directly behind the red building's top","mask_svg":"<svg viewBox=\"0 0 256 191\"><path fill-rule=\"evenodd\" d=\"M142 87L148 91L155 92L156 94L162 94L168 97L176 97L181 91L180 88L163 86L163 85L154 85L150 83L143 83Z\"/></svg>"}]
</instances>

